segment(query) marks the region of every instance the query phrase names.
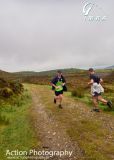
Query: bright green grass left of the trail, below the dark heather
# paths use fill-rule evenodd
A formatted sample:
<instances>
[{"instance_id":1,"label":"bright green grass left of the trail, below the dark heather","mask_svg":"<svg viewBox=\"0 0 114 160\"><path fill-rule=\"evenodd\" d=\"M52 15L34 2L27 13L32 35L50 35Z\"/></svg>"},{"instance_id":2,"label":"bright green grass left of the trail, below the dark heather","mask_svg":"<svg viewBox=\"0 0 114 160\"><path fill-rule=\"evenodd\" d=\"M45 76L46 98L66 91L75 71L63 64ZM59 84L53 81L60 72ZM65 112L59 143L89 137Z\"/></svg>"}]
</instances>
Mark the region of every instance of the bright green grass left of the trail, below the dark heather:
<instances>
[{"instance_id":1,"label":"bright green grass left of the trail, below the dark heather","mask_svg":"<svg viewBox=\"0 0 114 160\"><path fill-rule=\"evenodd\" d=\"M38 145L31 127L29 112L31 97L27 91L0 105L0 159L6 160L5 152L10 150L28 151Z\"/></svg>"}]
</instances>

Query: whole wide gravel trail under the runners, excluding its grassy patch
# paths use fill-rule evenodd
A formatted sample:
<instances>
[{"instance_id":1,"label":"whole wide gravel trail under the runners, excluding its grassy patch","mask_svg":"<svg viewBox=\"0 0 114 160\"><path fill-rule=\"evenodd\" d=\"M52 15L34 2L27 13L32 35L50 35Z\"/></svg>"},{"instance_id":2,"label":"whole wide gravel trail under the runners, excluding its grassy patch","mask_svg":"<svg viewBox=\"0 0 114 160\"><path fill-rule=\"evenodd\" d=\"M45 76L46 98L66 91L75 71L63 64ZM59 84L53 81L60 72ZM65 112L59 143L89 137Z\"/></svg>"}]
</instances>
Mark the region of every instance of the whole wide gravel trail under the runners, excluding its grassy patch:
<instances>
[{"instance_id":1,"label":"whole wide gravel trail under the runners, excluding its grassy patch","mask_svg":"<svg viewBox=\"0 0 114 160\"><path fill-rule=\"evenodd\" d=\"M91 112L86 105L81 102L76 102L73 98L68 96L65 96L63 109L60 110L52 103L53 94L48 88L33 85L30 87L30 90L33 100L31 110L33 125L35 127L36 134L40 137L41 149L49 151L67 150L73 152L71 157L68 155L62 157L55 156L53 158L49 158L49 160L93 160L91 157L84 157L84 150L79 147L77 141L74 141L69 137L67 129L74 123L77 125L79 123L85 123L86 121L89 122L89 125L90 122L100 123L101 130L102 132L104 131L104 133L106 131L106 135L105 139L102 140L103 142L101 141L103 144L99 144L101 145L99 148L105 147L105 145L112 145L112 143L114 143L114 116L106 113ZM50 106L51 111L49 111L49 108L47 109L47 106ZM57 115L54 114L53 111L56 111ZM65 119L63 116L65 116ZM63 119L65 123L61 123L58 117ZM95 138L98 139L97 137ZM105 148L102 150L105 150ZM114 160L113 151L113 147L111 151L106 151L106 154L111 160ZM103 154L105 154L105 151Z\"/></svg>"}]
</instances>

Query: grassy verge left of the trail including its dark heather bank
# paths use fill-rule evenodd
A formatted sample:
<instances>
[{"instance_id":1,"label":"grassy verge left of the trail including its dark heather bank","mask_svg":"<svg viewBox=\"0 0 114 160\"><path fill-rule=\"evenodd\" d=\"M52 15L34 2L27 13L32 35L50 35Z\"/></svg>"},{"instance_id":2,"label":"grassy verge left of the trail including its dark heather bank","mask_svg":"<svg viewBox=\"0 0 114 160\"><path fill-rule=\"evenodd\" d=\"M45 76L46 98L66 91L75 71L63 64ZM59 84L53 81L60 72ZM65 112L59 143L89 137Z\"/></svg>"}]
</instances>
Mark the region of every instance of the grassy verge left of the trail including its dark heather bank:
<instances>
[{"instance_id":1,"label":"grassy verge left of the trail including its dark heather bank","mask_svg":"<svg viewBox=\"0 0 114 160\"><path fill-rule=\"evenodd\" d=\"M29 118L31 101L21 83L0 78L0 159L6 160L7 149L27 151L38 144Z\"/></svg>"}]
</instances>

